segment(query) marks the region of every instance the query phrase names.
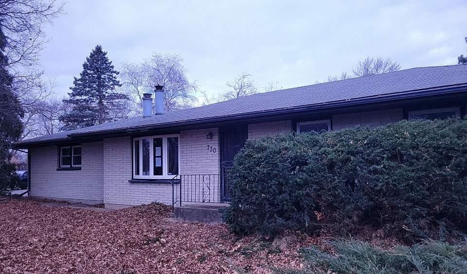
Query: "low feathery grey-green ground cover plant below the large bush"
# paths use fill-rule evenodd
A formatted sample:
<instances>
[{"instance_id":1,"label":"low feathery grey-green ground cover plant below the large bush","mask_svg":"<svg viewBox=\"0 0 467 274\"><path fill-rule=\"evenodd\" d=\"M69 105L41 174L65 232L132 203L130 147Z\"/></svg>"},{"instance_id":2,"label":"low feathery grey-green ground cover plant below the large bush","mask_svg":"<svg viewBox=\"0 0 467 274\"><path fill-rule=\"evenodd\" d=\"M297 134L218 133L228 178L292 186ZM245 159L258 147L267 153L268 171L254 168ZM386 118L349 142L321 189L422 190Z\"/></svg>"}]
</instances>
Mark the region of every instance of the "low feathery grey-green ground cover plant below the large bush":
<instances>
[{"instance_id":1,"label":"low feathery grey-green ground cover plant below the large bush","mask_svg":"<svg viewBox=\"0 0 467 274\"><path fill-rule=\"evenodd\" d=\"M384 250L357 240L331 242L334 254L319 248L303 248L305 269L278 270L281 274L465 274L467 245L424 241Z\"/></svg>"}]
</instances>

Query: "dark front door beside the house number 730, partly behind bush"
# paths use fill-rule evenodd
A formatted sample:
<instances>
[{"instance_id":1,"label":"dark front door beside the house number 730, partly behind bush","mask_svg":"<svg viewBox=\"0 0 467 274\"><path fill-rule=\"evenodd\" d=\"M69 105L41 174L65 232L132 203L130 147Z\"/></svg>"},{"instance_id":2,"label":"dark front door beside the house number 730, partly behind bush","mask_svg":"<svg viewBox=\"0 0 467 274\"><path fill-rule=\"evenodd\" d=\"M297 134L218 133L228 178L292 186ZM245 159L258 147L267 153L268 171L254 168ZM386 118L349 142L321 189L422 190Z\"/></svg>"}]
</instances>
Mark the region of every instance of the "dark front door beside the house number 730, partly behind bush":
<instances>
[{"instance_id":1,"label":"dark front door beside the house number 730, partly behind bush","mask_svg":"<svg viewBox=\"0 0 467 274\"><path fill-rule=\"evenodd\" d=\"M230 201L230 170L234 167L234 157L248 138L248 126L235 126L220 129L220 170L222 175L222 202Z\"/></svg>"}]
</instances>

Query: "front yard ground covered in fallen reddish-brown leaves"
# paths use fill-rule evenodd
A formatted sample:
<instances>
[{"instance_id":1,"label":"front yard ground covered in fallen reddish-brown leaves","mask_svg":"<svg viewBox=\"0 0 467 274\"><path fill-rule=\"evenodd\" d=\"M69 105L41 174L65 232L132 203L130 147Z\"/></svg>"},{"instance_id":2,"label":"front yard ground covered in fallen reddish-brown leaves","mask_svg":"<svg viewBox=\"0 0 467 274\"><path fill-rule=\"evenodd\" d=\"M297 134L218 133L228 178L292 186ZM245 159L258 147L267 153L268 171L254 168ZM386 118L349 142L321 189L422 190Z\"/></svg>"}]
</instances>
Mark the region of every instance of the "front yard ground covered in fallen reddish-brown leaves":
<instances>
[{"instance_id":1,"label":"front yard ground covered in fallen reddish-brown leaves","mask_svg":"<svg viewBox=\"0 0 467 274\"><path fill-rule=\"evenodd\" d=\"M225 225L183 223L169 208L137 206L110 212L0 204L0 273L271 273L301 268L297 247L238 239Z\"/></svg>"}]
</instances>

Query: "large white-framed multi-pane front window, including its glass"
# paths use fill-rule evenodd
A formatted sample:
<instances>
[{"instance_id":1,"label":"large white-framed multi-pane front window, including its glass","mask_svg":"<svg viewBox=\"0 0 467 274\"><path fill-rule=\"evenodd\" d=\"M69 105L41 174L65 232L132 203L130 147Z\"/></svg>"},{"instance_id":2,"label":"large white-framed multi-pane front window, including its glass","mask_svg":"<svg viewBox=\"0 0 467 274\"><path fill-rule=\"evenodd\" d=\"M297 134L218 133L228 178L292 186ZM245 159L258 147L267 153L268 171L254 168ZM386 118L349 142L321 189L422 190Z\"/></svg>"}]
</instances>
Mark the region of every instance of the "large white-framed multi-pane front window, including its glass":
<instances>
[{"instance_id":1,"label":"large white-framed multi-pane front window, including its glass","mask_svg":"<svg viewBox=\"0 0 467 274\"><path fill-rule=\"evenodd\" d=\"M178 135L133 139L133 178L172 179L179 169Z\"/></svg>"}]
</instances>

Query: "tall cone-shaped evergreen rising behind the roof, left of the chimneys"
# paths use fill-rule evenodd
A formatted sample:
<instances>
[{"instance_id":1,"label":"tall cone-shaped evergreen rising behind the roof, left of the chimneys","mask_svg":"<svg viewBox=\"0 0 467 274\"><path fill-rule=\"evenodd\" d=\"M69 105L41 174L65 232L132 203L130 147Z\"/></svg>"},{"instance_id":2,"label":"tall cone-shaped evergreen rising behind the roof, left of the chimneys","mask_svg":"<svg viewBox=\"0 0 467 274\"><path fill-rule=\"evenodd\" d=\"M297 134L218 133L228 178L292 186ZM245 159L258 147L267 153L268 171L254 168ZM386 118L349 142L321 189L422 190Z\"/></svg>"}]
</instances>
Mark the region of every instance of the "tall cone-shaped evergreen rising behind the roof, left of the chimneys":
<instances>
[{"instance_id":1,"label":"tall cone-shaped evergreen rising behind the roof, left of the chimneys","mask_svg":"<svg viewBox=\"0 0 467 274\"><path fill-rule=\"evenodd\" d=\"M72 104L72 111L60 117L64 122L64 130L83 128L104 122L117 120L119 110L128 100L125 94L116 92L121 86L117 80L119 74L108 60L107 52L97 45L91 51L80 77L74 77L70 99L65 103Z\"/></svg>"}]
</instances>

